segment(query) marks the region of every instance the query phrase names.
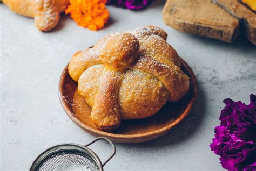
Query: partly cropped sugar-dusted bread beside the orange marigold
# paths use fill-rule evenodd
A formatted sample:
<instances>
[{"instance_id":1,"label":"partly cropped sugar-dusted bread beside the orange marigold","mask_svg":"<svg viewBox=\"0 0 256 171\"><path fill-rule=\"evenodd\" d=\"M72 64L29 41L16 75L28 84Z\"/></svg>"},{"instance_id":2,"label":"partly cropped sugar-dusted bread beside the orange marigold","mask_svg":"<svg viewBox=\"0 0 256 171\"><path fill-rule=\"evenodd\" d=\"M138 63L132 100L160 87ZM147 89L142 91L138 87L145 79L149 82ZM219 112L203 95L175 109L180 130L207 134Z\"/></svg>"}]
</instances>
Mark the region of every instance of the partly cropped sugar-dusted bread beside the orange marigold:
<instances>
[{"instance_id":1,"label":"partly cropped sugar-dusted bread beside the orange marigold","mask_svg":"<svg viewBox=\"0 0 256 171\"><path fill-rule=\"evenodd\" d=\"M50 31L59 22L59 13L69 5L69 0L3 0L12 11L35 18L40 31Z\"/></svg>"}]
</instances>

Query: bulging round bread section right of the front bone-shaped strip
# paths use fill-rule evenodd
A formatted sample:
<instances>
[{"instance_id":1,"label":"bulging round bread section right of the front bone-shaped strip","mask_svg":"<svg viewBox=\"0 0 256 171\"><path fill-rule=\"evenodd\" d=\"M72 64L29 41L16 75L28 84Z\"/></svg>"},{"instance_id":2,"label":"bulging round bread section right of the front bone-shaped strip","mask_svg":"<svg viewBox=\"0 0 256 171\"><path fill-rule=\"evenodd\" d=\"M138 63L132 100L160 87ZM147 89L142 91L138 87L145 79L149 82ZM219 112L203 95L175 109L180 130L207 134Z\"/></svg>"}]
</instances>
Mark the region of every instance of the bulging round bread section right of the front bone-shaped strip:
<instances>
[{"instance_id":1,"label":"bulging round bread section right of the front bone-shaped strip","mask_svg":"<svg viewBox=\"0 0 256 171\"><path fill-rule=\"evenodd\" d=\"M121 83L118 104L122 119L147 118L167 102L169 92L154 75L139 69L127 70Z\"/></svg>"}]
</instances>

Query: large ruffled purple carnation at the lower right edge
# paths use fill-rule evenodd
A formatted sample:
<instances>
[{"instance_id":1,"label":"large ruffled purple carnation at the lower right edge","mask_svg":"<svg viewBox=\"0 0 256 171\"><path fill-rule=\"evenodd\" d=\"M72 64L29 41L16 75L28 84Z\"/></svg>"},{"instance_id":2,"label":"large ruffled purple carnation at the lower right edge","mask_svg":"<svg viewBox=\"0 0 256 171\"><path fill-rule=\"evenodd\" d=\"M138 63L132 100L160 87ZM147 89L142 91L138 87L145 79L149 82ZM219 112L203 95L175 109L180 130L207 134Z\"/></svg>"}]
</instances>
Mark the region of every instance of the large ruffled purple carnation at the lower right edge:
<instances>
[{"instance_id":1,"label":"large ruffled purple carnation at the lower right edge","mask_svg":"<svg viewBox=\"0 0 256 171\"><path fill-rule=\"evenodd\" d=\"M215 127L215 138L210 147L220 155L220 163L228 170L256 170L256 96L251 103L224 100L220 126Z\"/></svg>"}]
</instances>

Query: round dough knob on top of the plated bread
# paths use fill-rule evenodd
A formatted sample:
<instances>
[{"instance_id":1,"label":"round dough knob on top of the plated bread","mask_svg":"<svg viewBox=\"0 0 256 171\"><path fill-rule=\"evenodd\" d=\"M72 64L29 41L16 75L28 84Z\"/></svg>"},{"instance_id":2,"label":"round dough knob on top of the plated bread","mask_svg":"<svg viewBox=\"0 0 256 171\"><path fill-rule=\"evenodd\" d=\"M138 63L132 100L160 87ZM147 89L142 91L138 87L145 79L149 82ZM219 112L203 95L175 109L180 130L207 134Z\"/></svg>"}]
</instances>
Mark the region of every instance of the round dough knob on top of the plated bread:
<instances>
[{"instance_id":1,"label":"round dough knob on top of the plated bread","mask_svg":"<svg viewBox=\"0 0 256 171\"><path fill-rule=\"evenodd\" d=\"M120 70L137 58L139 41L132 34L120 32L104 38L99 49L100 60L108 67Z\"/></svg>"}]
</instances>

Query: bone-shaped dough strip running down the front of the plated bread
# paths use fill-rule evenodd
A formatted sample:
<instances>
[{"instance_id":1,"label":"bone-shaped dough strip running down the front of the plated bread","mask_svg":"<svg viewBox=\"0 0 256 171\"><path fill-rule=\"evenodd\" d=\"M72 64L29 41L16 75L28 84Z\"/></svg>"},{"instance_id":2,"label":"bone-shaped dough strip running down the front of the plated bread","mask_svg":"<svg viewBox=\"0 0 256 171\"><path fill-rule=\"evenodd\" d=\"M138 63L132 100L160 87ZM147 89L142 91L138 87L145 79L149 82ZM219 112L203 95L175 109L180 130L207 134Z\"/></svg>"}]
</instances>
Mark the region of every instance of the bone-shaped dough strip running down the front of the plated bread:
<instances>
[{"instance_id":1,"label":"bone-shaped dough strip running down the front of the plated bread","mask_svg":"<svg viewBox=\"0 0 256 171\"><path fill-rule=\"evenodd\" d=\"M117 103L121 82L122 73L105 68L91 112L91 119L99 130L112 131L121 123Z\"/></svg>"}]
</instances>

